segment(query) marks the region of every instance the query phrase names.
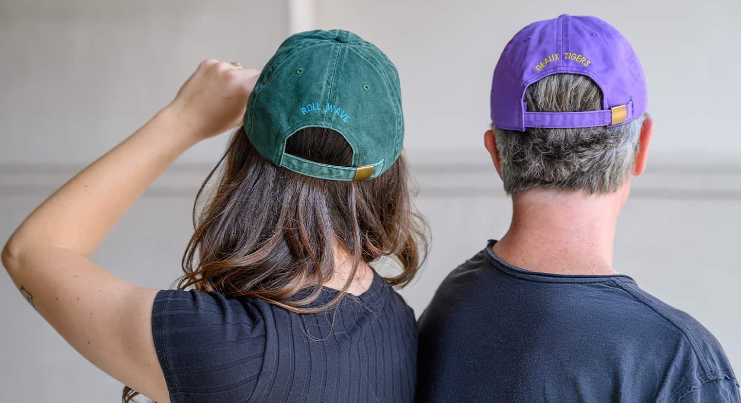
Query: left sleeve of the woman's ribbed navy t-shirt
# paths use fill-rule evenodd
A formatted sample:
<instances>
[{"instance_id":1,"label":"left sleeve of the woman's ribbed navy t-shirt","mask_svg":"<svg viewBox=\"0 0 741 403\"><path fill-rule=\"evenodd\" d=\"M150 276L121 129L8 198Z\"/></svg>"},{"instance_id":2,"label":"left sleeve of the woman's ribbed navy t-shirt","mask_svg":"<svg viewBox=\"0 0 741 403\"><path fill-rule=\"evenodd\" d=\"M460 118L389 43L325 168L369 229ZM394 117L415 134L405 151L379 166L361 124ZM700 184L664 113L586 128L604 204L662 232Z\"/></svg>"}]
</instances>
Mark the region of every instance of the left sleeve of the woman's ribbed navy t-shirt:
<instances>
[{"instance_id":1,"label":"left sleeve of the woman's ribbed navy t-shirt","mask_svg":"<svg viewBox=\"0 0 741 403\"><path fill-rule=\"evenodd\" d=\"M219 293L162 290L152 336L170 402L245 402L265 352L265 322L250 303Z\"/></svg>"}]
</instances>

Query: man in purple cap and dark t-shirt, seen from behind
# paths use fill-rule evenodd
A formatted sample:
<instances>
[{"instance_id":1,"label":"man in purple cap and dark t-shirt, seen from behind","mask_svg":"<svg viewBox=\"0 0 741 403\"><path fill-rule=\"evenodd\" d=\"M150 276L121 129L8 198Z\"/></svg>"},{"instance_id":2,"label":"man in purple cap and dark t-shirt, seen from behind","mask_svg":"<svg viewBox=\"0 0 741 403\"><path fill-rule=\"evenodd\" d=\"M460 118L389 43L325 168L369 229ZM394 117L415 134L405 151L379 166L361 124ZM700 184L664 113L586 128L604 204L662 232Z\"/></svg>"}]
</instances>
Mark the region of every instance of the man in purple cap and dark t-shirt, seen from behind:
<instances>
[{"instance_id":1,"label":"man in purple cap and dark t-shirt, seen from behind","mask_svg":"<svg viewBox=\"0 0 741 403\"><path fill-rule=\"evenodd\" d=\"M511 227L419 320L418 402L741 402L711 333L611 265L646 106L634 50L600 19L539 21L507 44L484 142Z\"/></svg>"}]
</instances>

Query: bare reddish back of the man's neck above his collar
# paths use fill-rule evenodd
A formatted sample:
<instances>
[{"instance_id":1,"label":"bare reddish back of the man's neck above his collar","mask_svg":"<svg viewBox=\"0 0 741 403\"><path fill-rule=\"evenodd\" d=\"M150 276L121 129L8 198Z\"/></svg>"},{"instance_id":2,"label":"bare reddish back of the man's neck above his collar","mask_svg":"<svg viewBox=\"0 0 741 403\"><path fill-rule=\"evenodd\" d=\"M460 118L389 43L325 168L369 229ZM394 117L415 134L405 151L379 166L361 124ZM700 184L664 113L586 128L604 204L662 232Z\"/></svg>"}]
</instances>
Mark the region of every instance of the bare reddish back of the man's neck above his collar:
<instances>
[{"instance_id":1,"label":"bare reddish back of the man's neck above his collar","mask_svg":"<svg viewBox=\"0 0 741 403\"><path fill-rule=\"evenodd\" d=\"M537 272L615 274L615 225L627 196L628 186L606 195L526 190L513 196L512 223L494 253Z\"/></svg>"}]
</instances>

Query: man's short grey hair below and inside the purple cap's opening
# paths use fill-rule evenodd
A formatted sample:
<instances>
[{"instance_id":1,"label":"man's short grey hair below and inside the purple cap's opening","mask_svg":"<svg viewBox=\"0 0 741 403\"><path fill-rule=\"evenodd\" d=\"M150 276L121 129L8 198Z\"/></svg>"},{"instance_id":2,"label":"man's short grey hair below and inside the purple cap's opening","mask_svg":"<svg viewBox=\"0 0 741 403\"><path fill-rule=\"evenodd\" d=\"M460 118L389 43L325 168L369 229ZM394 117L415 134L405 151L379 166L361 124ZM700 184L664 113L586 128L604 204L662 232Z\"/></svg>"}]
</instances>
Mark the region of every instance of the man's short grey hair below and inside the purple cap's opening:
<instances>
[{"instance_id":1,"label":"man's short grey hair below and inside the purple cap's opening","mask_svg":"<svg viewBox=\"0 0 741 403\"><path fill-rule=\"evenodd\" d=\"M587 76L554 74L528 87L528 110L601 110L602 92ZM617 127L544 129L525 132L494 127L505 191L534 187L609 193L633 173L645 115Z\"/></svg>"}]
</instances>

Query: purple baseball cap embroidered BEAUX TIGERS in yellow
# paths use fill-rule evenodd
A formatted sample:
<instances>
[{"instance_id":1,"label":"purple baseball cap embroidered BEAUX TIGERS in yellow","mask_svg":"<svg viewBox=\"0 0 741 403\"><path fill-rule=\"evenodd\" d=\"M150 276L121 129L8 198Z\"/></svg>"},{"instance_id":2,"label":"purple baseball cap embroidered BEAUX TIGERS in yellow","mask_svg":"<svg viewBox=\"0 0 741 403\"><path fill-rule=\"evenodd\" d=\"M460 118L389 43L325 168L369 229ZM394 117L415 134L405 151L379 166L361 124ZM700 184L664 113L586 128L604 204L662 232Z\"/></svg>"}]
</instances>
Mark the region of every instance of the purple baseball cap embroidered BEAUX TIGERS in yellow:
<instances>
[{"instance_id":1,"label":"purple baseball cap embroidered BEAUX TIGERS in yellow","mask_svg":"<svg viewBox=\"0 0 741 403\"><path fill-rule=\"evenodd\" d=\"M525 90L545 76L588 76L602 90L602 110L528 112ZM633 47L610 24L591 16L534 22L505 46L491 83L491 121L525 127L614 127L643 115L648 105L643 68Z\"/></svg>"}]
</instances>

